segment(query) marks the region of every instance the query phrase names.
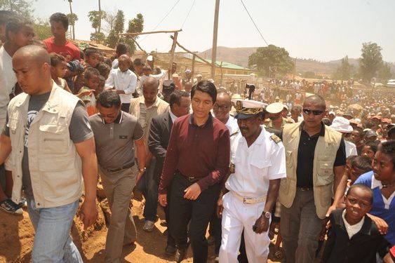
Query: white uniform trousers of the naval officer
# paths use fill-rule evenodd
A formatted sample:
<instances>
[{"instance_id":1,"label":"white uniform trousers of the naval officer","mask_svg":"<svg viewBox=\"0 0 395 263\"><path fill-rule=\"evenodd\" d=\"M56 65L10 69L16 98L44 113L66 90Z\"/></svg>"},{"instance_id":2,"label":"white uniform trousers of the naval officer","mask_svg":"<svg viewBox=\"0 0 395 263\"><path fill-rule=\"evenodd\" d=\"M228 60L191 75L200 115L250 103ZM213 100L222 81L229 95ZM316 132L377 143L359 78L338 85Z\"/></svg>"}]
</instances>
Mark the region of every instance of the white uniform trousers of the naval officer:
<instances>
[{"instance_id":1,"label":"white uniform trousers of the naval officer","mask_svg":"<svg viewBox=\"0 0 395 263\"><path fill-rule=\"evenodd\" d=\"M223 196L222 242L220 263L237 263L237 255L244 229L248 262L267 262L270 239L268 232L256 234L253 225L265 208L265 203L247 204L228 192Z\"/></svg>"}]
</instances>

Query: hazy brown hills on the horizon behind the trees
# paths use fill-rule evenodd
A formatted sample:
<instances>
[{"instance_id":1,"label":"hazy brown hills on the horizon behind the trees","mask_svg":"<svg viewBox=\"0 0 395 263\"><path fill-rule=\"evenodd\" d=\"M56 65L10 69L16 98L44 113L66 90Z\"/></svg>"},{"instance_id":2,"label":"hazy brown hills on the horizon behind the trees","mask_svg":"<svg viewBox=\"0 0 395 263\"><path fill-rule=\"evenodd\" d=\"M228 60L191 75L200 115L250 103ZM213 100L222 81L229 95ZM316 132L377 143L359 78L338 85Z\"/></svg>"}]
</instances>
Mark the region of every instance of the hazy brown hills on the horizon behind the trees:
<instances>
[{"instance_id":1,"label":"hazy brown hills on the horizon behind the trees","mask_svg":"<svg viewBox=\"0 0 395 263\"><path fill-rule=\"evenodd\" d=\"M217 60L231 62L236 65L248 67L248 57L257 50L255 48L227 48L217 47ZM202 58L211 59L211 48L199 53ZM342 62L342 59L329 62L320 62L312 59L294 58L296 62L296 72L314 72L320 76L331 76ZM349 58L349 63L358 68L358 59ZM395 64L390 64L392 72L395 72Z\"/></svg>"}]
</instances>

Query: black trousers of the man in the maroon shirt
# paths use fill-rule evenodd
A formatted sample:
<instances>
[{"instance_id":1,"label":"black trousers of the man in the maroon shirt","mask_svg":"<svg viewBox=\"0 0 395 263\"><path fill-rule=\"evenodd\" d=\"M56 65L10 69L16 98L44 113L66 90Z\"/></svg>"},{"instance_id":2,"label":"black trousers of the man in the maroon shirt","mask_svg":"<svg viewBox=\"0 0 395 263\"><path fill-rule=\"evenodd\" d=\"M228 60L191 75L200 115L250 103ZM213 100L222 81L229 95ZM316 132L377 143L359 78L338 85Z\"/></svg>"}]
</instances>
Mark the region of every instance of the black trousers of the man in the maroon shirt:
<instances>
[{"instance_id":1,"label":"black trousers of the man in the maroon shirt","mask_svg":"<svg viewBox=\"0 0 395 263\"><path fill-rule=\"evenodd\" d=\"M220 185L208 187L201 192L199 198L191 201L184 198L184 190L192 184L194 182L189 182L187 177L176 173L171 186L170 231L179 249L187 248L187 234L189 234L194 263L206 263L208 257L206 230L217 205Z\"/></svg>"}]
</instances>

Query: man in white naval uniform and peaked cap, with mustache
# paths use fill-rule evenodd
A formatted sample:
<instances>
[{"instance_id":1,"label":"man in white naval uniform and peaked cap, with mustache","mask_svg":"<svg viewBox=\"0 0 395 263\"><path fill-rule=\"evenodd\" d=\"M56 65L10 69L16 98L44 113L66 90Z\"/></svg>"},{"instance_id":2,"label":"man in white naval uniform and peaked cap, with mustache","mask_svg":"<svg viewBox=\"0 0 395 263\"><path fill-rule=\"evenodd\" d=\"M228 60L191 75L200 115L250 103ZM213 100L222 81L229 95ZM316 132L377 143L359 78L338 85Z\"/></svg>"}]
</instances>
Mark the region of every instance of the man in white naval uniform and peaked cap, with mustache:
<instances>
[{"instance_id":1,"label":"man in white naval uniform and peaked cap, with mustache","mask_svg":"<svg viewBox=\"0 0 395 263\"><path fill-rule=\"evenodd\" d=\"M220 262L238 262L243 231L248 262L267 262L269 255L271 211L286 177L286 156L280 138L260 126L263 107L262 102L236 101L240 133L231 137L231 165L217 202Z\"/></svg>"}]
</instances>

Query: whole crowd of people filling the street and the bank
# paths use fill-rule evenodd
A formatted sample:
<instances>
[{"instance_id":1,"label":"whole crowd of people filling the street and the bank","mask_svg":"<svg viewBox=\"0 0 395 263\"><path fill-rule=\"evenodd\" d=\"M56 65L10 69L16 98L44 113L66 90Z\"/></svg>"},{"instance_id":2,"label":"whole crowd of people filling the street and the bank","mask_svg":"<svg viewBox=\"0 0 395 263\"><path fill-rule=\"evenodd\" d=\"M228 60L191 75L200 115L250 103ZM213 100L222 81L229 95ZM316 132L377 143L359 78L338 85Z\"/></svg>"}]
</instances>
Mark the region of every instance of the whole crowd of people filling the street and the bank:
<instances>
[{"instance_id":1,"label":"whole crowd of people filling the street and the bank","mask_svg":"<svg viewBox=\"0 0 395 263\"><path fill-rule=\"evenodd\" d=\"M49 22L39 41L0 11L0 208L27 206L32 262L82 262L69 232L80 200L84 227L95 223L98 177L105 262L137 241L133 191L143 231L163 208L176 262L189 246L207 262L208 245L219 262L266 262L275 235L283 262L394 262L394 97L279 80L248 100L152 55L132 60L126 43L112 59L79 50L65 14Z\"/></svg>"}]
</instances>

